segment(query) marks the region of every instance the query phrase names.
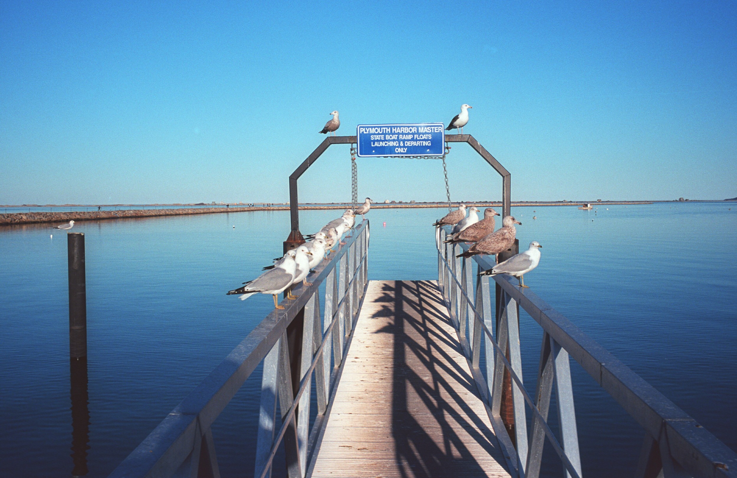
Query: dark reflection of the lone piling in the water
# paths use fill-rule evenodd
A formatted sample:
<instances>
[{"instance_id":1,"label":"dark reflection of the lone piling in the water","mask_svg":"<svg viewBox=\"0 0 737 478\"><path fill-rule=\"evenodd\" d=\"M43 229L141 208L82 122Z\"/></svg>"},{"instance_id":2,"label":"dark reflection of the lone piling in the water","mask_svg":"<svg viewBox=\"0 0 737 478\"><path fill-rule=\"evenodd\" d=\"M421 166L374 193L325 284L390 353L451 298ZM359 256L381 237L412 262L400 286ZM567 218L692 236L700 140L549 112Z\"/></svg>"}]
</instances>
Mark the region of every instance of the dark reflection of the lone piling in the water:
<instances>
[{"instance_id":1,"label":"dark reflection of the lone piling in the water","mask_svg":"<svg viewBox=\"0 0 737 478\"><path fill-rule=\"evenodd\" d=\"M87 394L87 357L69 359L71 389L71 460L72 477L87 474L87 450L90 448L90 411Z\"/></svg>"}]
</instances>

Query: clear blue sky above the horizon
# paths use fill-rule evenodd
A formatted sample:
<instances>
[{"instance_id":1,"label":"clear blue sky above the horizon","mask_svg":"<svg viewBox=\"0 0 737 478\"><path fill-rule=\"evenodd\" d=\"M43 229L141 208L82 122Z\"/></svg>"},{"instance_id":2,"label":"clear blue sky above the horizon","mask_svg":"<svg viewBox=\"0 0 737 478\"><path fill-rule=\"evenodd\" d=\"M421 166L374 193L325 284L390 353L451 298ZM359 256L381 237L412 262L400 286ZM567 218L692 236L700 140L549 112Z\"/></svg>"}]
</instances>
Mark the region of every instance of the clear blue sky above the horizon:
<instances>
[{"instance_id":1,"label":"clear blue sky above the horizon","mask_svg":"<svg viewBox=\"0 0 737 478\"><path fill-rule=\"evenodd\" d=\"M737 3L0 1L0 204L288 200L359 123L447 122L513 200L737 195ZM500 198L467 145L454 200ZM444 197L436 160L359 194ZM300 180L350 198L347 146Z\"/></svg>"}]
</instances>

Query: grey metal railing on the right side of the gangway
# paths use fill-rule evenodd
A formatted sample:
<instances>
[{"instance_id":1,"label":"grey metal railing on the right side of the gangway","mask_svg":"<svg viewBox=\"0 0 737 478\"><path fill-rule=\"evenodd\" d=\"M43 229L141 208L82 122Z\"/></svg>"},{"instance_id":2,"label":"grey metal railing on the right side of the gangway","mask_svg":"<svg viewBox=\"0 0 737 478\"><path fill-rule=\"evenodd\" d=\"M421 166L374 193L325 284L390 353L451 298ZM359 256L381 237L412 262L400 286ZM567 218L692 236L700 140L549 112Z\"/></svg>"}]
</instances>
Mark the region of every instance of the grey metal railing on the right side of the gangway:
<instances>
[{"instance_id":1,"label":"grey metal railing on the right side of the gangway","mask_svg":"<svg viewBox=\"0 0 737 478\"><path fill-rule=\"evenodd\" d=\"M490 257L455 257L469 246L444 244L449 233L447 226L436 229L439 287L512 476L539 476L547 438L562 461L566 477L581 477L570 355L645 430L635 477L737 477L734 451L529 288L520 288L514 277L478 274L495 265ZM475 291L472 260L478 263ZM490 277L500 286L493 298ZM496 311L492 303L497 304ZM519 306L543 330L534 398L523 386ZM496 336L492 333L494 325ZM480 369L482 339L488 380ZM559 438L548 426L553 389ZM510 392L514 426L508 428L500 411L503 398ZM525 415L528 410L532 415L531 433ZM508 429L513 432L510 434Z\"/></svg>"}]
</instances>

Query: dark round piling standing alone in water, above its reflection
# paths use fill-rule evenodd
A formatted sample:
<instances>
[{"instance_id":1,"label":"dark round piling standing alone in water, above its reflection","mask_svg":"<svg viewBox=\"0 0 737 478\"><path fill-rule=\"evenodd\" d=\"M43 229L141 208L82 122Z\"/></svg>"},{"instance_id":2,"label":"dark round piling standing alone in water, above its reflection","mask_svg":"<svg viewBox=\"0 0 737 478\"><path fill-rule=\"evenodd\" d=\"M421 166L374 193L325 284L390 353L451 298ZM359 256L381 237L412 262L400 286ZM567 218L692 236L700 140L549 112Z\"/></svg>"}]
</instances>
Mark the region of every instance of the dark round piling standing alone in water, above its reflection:
<instances>
[{"instance_id":1,"label":"dark round piling standing alone in water, above its reflection","mask_svg":"<svg viewBox=\"0 0 737 478\"><path fill-rule=\"evenodd\" d=\"M87 356L87 293L85 291L85 235L66 235L69 262L69 356Z\"/></svg>"}]
</instances>

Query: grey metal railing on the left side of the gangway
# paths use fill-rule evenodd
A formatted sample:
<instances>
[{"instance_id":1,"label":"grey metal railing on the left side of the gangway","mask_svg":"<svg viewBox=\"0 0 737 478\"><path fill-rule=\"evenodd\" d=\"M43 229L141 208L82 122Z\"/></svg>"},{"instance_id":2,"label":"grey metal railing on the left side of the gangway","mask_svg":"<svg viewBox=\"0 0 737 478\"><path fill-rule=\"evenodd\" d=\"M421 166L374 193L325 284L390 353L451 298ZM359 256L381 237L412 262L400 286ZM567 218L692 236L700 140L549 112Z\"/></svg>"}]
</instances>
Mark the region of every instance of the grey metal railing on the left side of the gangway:
<instances>
[{"instance_id":1,"label":"grey metal railing on the left side of the gangway","mask_svg":"<svg viewBox=\"0 0 737 478\"><path fill-rule=\"evenodd\" d=\"M263 361L255 477L269 477L284 444L287 474L302 478L343 370L360 303L368 286L368 221L294 289L110 474L111 478L220 477L210 427ZM338 244L336 244L338 246ZM324 317L319 287L325 283ZM299 321L302 328L290 328ZM301 330L301 334L295 332ZM301 343L290 348L290 343ZM299 337L301 335L301 337ZM296 373L299 370L299 373ZM312 375L318 405L310 426ZM282 426L276 429L279 404Z\"/></svg>"}]
</instances>

